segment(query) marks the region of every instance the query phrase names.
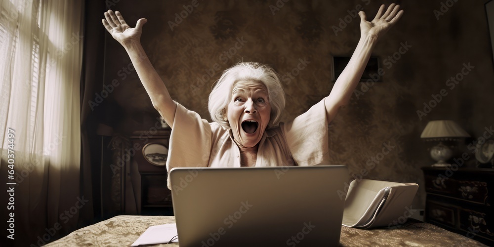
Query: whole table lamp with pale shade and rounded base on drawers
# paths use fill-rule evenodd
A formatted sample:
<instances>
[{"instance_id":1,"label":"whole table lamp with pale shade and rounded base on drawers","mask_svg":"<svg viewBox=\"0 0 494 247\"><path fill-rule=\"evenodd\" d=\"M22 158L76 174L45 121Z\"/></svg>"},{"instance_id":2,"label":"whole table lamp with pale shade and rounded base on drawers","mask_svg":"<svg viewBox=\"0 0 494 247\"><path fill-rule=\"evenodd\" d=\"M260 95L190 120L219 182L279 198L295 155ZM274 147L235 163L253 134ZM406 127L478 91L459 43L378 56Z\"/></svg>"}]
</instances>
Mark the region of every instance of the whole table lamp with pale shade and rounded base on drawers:
<instances>
[{"instance_id":1,"label":"whole table lamp with pale shade and rounded base on drawers","mask_svg":"<svg viewBox=\"0 0 494 247\"><path fill-rule=\"evenodd\" d=\"M444 145L443 141L458 141L465 137L470 135L452 120L430 121L420 135L420 138L427 141L439 141L439 144L431 148L431 158L436 161L433 167L451 165L447 161L453 158L453 147Z\"/></svg>"}]
</instances>

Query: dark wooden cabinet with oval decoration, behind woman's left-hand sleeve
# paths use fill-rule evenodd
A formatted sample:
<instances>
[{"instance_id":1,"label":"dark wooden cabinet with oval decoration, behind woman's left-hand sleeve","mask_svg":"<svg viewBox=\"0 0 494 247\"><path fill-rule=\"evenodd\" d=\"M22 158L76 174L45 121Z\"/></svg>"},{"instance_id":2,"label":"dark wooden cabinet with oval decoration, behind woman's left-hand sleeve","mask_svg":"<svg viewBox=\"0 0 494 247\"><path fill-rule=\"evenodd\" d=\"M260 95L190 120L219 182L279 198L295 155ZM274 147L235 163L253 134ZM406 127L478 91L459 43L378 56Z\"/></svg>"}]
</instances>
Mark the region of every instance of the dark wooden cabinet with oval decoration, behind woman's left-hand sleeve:
<instances>
[{"instance_id":1,"label":"dark wooden cabinet with oval decoration, behind woman's left-hand sleeve","mask_svg":"<svg viewBox=\"0 0 494 247\"><path fill-rule=\"evenodd\" d=\"M130 137L135 154L130 160L129 182L139 215L173 215L171 191L166 186L169 137L169 130L136 131Z\"/></svg>"}]
</instances>

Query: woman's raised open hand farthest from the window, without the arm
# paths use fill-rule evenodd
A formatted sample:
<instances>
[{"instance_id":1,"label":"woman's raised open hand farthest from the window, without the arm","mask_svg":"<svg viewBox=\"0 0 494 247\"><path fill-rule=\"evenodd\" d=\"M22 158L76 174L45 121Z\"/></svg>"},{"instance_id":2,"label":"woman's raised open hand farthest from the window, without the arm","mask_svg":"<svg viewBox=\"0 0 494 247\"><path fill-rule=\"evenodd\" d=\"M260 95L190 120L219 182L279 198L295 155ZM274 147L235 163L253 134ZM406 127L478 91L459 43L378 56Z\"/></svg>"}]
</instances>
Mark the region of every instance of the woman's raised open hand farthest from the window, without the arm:
<instances>
[{"instance_id":1,"label":"woman's raised open hand farthest from the window, without the arm","mask_svg":"<svg viewBox=\"0 0 494 247\"><path fill-rule=\"evenodd\" d=\"M366 13L360 11L360 31L362 36L374 36L379 38L384 35L403 15L403 10L400 10L400 5L392 3L389 5L386 12L383 14L384 4L381 5L379 11L372 21L367 21Z\"/></svg>"}]
</instances>

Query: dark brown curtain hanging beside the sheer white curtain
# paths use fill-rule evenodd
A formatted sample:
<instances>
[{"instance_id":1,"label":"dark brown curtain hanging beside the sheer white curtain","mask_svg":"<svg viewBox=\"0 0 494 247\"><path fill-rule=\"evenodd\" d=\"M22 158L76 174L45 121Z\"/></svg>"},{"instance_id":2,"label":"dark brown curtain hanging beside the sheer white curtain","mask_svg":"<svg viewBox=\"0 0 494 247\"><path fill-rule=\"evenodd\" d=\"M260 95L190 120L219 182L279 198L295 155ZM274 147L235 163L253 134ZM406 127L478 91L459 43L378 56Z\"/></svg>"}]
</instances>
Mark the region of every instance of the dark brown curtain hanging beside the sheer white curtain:
<instances>
[{"instance_id":1,"label":"dark brown curtain hanging beside the sheer white curtain","mask_svg":"<svg viewBox=\"0 0 494 247\"><path fill-rule=\"evenodd\" d=\"M81 195L89 206L80 212L80 226L101 220L100 157L101 137L96 134L98 112L91 108L96 92L101 91L104 72L105 29L101 23L106 11L104 0L86 0L84 53L81 75Z\"/></svg>"}]
</instances>

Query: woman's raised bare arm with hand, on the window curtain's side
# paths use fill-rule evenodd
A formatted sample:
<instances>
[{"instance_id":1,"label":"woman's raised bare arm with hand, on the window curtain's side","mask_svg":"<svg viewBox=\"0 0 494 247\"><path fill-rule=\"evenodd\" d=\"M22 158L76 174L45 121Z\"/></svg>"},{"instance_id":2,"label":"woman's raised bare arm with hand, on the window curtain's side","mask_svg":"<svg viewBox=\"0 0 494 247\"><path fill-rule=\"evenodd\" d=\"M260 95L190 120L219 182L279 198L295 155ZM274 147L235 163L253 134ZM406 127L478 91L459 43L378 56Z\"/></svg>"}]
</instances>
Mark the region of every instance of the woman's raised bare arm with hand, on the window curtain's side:
<instances>
[{"instance_id":1,"label":"woman's raised bare arm with hand, on the window curtain's side","mask_svg":"<svg viewBox=\"0 0 494 247\"><path fill-rule=\"evenodd\" d=\"M173 127L175 119L175 111L177 105L173 101L166 89L165 83L154 69L149 61L148 56L142 48L140 38L142 26L147 22L146 19L139 19L135 28L131 28L122 17L119 11L113 12L108 10L105 12L105 19L102 20L106 30L112 37L119 41L127 51L135 71L146 89L154 108L158 110L166 123Z\"/></svg>"}]
</instances>

